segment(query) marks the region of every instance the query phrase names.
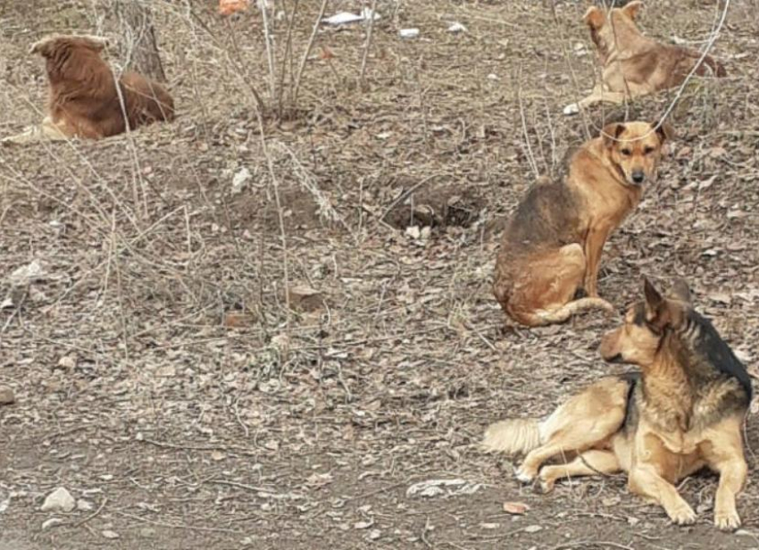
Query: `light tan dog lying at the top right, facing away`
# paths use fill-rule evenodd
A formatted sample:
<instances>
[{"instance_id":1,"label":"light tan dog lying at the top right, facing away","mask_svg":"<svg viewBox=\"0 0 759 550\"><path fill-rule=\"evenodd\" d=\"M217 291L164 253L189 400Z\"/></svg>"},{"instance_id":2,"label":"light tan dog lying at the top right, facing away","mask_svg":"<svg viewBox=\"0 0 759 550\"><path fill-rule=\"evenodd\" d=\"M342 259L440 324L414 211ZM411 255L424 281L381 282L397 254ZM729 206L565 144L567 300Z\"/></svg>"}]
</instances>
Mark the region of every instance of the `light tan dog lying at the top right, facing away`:
<instances>
[{"instance_id":1,"label":"light tan dog lying at the top right, facing away","mask_svg":"<svg viewBox=\"0 0 759 550\"><path fill-rule=\"evenodd\" d=\"M583 20L596 45L603 71L601 83L580 104L567 105L564 114L575 114L580 107L602 101L621 104L626 99L680 86L693 71L701 54L643 36L635 24L641 7L642 2L630 2L608 12L595 6L588 8ZM707 55L698 65L696 75L724 77L727 72Z\"/></svg>"}]
</instances>

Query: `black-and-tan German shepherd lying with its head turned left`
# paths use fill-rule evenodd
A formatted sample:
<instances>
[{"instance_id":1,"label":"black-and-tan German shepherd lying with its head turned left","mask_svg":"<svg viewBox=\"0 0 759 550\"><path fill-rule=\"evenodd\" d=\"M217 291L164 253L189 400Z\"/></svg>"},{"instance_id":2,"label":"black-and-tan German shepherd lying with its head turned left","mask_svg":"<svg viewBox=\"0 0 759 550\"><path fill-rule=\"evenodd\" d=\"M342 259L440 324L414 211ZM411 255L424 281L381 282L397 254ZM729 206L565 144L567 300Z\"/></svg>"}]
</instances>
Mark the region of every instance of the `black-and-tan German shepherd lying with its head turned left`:
<instances>
[{"instance_id":1,"label":"black-and-tan German shepherd lying with its head turned left","mask_svg":"<svg viewBox=\"0 0 759 550\"><path fill-rule=\"evenodd\" d=\"M671 521L693 523L696 513L675 484L707 466L720 475L714 523L736 529L736 496L746 480L741 425L751 401L743 364L693 309L679 281L663 297L646 280L645 300L605 335L601 354L640 372L601 379L559 406L546 420L490 426L491 451L528 453L517 471L545 491L557 479L626 471L630 490L661 504ZM562 465L541 465L551 457Z\"/></svg>"}]
</instances>

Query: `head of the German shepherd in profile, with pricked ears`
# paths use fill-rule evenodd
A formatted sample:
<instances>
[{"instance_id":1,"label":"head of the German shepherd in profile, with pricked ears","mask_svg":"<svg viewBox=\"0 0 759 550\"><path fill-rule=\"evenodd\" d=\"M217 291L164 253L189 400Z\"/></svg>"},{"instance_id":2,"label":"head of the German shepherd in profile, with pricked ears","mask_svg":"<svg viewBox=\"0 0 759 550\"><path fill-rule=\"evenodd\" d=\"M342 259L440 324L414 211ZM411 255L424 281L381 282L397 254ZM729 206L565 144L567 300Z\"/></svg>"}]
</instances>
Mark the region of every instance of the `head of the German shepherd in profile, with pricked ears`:
<instances>
[{"instance_id":1,"label":"head of the German shepherd in profile, with pricked ears","mask_svg":"<svg viewBox=\"0 0 759 550\"><path fill-rule=\"evenodd\" d=\"M608 362L630 362L646 367L654 362L668 329L679 329L692 309L688 284L679 279L663 296L644 280L644 299L630 305L621 327L607 332L599 351Z\"/></svg>"}]
</instances>

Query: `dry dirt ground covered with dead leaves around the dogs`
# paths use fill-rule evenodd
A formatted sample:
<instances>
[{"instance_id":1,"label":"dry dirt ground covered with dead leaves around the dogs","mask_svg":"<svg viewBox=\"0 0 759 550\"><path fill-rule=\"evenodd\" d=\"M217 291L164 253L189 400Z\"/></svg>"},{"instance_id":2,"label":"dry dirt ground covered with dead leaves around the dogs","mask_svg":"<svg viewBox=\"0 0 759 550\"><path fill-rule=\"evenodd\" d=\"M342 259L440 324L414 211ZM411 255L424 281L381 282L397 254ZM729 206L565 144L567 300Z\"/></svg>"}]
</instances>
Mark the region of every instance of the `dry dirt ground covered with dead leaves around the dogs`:
<instances>
[{"instance_id":1,"label":"dry dirt ground covered with dead leaves around the dogs","mask_svg":"<svg viewBox=\"0 0 759 550\"><path fill-rule=\"evenodd\" d=\"M699 520L677 528L622 477L540 496L476 446L489 422L545 414L624 370L596 353L613 319L514 329L489 288L491 229L603 120L561 114L575 78L593 80L584 4L380 0L365 86L366 29L321 27L281 121L260 12L151 4L177 121L0 149L0 386L16 398L0 407L2 550L759 548L754 414L738 534L713 528L711 475L683 484ZM300 4L296 71L320 3ZM712 1L651 4L642 25L665 40L703 41L719 15ZM0 6L8 135L44 102L31 42L118 32L103 2ZM329 2L328 15L359 8ZM730 78L685 90L659 182L600 279L621 310L642 274L686 276L752 370L757 13L733 1L715 44ZM466 32L448 32L454 21ZM274 18L276 70L292 89L286 22ZM420 37L398 37L410 27ZM672 99L628 114L654 119ZM409 491L430 479L461 483ZM41 512L55 487L91 509ZM509 516L505 502L530 510Z\"/></svg>"}]
</instances>

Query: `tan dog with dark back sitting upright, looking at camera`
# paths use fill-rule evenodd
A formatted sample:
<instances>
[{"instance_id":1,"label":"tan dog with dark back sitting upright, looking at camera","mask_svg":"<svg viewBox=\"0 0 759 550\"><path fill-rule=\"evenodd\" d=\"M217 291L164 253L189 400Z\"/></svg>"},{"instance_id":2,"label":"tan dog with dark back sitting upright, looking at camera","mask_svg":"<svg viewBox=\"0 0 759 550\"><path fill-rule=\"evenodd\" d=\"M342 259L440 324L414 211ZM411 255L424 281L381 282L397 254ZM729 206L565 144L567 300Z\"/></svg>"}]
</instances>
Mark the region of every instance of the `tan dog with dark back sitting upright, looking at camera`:
<instances>
[{"instance_id":1,"label":"tan dog with dark back sitting upright, looking at camera","mask_svg":"<svg viewBox=\"0 0 759 550\"><path fill-rule=\"evenodd\" d=\"M563 181L538 183L506 226L493 291L507 315L531 327L612 305L596 281L606 239L655 179L671 130L647 122L615 122L570 161ZM588 295L571 302L584 289Z\"/></svg>"}]
</instances>

